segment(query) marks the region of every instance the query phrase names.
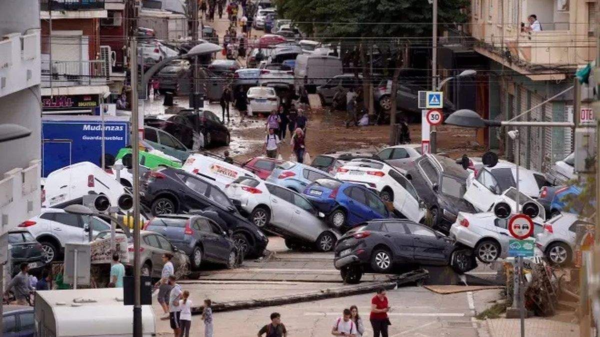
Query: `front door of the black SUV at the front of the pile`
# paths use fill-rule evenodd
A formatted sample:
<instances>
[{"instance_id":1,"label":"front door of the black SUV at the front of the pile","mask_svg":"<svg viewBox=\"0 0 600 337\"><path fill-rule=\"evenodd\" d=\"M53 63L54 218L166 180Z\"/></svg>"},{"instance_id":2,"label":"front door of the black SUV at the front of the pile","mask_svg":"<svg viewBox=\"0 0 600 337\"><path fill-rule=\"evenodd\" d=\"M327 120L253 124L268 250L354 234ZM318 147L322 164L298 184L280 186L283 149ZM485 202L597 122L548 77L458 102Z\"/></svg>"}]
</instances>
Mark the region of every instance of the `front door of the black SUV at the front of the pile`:
<instances>
[{"instance_id":1,"label":"front door of the black SUV at the front of the pile","mask_svg":"<svg viewBox=\"0 0 600 337\"><path fill-rule=\"evenodd\" d=\"M448 242L442 236L437 236L430 228L413 222L405 222L407 231L413 239L415 248L415 263L443 265L446 264L444 254Z\"/></svg>"}]
</instances>

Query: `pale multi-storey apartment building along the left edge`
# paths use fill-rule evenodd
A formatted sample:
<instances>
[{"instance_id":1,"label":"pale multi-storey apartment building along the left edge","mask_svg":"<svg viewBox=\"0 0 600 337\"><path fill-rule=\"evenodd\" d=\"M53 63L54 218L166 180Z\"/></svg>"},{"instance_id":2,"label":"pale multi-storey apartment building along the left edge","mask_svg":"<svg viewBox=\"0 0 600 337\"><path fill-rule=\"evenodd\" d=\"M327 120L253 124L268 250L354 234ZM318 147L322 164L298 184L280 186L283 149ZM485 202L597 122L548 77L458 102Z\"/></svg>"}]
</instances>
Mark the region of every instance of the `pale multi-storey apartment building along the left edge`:
<instances>
[{"instance_id":1,"label":"pale multi-storey apartment building along the left edge","mask_svg":"<svg viewBox=\"0 0 600 337\"><path fill-rule=\"evenodd\" d=\"M0 36L0 124L31 130L28 137L0 143L1 236L40 213L39 0L0 1Z\"/></svg>"}]
</instances>

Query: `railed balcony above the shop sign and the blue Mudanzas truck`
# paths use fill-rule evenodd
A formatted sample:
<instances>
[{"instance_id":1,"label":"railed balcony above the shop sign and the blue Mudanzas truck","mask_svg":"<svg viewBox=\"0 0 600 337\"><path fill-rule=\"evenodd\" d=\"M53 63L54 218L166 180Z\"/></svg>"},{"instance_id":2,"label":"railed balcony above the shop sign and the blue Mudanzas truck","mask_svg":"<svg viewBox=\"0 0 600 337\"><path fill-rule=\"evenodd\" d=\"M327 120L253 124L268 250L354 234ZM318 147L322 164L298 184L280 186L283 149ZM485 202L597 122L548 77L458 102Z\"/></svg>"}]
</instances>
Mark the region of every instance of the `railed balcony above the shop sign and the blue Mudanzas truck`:
<instances>
[{"instance_id":1,"label":"railed balcony above the shop sign and the blue Mudanzas truck","mask_svg":"<svg viewBox=\"0 0 600 337\"><path fill-rule=\"evenodd\" d=\"M110 77L107 63L104 60L92 61L50 61L48 55L42 55L42 83L43 88L65 86L92 86L106 85Z\"/></svg>"}]
</instances>

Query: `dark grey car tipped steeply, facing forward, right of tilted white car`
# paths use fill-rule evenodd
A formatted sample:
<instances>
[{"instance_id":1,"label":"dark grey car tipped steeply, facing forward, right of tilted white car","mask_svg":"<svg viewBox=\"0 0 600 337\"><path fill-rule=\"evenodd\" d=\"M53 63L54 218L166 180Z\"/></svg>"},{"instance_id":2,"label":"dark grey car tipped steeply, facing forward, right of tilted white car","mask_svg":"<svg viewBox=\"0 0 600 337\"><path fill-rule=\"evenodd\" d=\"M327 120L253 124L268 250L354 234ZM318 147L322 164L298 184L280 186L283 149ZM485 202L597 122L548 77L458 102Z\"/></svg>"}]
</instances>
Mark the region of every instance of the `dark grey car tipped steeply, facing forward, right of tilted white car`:
<instances>
[{"instance_id":1,"label":"dark grey car tipped steeply, facing forward, right of tilted white car","mask_svg":"<svg viewBox=\"0 0 600 337\"><path fill-rule=\"evenodd\" d=\"M430 210L431 226L448 233L458 212L476 213L463 199L469 172L454 160L440 155L424 155L414 161L406 177Z\"/></svg>"}]
</instances>

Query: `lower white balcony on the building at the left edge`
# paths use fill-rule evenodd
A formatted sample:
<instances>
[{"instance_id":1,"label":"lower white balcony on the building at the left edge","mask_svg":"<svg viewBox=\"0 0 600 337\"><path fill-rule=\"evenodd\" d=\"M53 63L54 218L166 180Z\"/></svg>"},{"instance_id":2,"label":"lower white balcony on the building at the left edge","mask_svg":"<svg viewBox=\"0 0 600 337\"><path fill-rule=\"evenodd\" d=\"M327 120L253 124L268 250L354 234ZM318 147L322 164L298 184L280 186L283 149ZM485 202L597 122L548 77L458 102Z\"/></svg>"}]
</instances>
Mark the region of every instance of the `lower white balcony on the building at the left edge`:
<instances>
[{"instance_id":1,"label":"lower white balcony on the building at the left edge","mask_svg":"<svg viewBox=\"0 0 600 337\"><path fill-rule=\"evenodd\" d=\"M0 234L40 213L40 161L4 173L0 180Z\"/></svg>"}]
</instances>

